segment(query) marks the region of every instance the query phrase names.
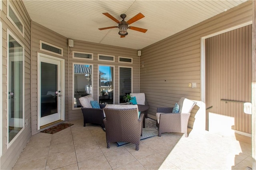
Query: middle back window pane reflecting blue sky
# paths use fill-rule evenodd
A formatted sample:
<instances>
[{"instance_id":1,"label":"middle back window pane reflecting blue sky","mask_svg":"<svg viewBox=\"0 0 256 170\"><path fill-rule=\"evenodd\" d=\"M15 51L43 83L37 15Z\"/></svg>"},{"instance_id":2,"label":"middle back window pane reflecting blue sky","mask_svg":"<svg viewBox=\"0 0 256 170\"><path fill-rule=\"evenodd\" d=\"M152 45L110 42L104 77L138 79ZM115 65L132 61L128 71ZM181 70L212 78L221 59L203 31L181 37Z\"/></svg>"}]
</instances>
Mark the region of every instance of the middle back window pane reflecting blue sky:
<instances>
[{"instance_id":1,"label":"middle back window pane reflecting blue sky","mask_svg":"<svg viewBox=\"0 0 256 170\"><path fill-rule=\"evenodd\" d=\"M114 103L114 67L99 66L99 99L101 104Z\"/></svg>"}]
</instances>

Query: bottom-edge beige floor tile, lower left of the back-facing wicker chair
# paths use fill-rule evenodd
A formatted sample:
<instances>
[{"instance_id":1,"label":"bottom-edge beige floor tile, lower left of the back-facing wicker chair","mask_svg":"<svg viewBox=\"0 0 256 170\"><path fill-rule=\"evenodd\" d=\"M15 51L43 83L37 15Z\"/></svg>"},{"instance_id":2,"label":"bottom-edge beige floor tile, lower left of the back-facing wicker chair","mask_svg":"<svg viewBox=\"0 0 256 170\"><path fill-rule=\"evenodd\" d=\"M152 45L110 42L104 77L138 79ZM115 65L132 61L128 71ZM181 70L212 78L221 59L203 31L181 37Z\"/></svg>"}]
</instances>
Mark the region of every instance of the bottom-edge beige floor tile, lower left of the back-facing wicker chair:
<instances>
[{"instance_id":1,"label":"bottom-edge beige floor tile, lower left of the back-facing wicker chair","mask_svg":"<svg viewBox=\"0 0 256 170\"><path fill-rule=\"evenodd\" d=\"M79 167L79 170L111 170L112 169L104 155L96 156L94 158L90 158L82 162L78 162L78 167Z\"/></svg>"}]
</instances>

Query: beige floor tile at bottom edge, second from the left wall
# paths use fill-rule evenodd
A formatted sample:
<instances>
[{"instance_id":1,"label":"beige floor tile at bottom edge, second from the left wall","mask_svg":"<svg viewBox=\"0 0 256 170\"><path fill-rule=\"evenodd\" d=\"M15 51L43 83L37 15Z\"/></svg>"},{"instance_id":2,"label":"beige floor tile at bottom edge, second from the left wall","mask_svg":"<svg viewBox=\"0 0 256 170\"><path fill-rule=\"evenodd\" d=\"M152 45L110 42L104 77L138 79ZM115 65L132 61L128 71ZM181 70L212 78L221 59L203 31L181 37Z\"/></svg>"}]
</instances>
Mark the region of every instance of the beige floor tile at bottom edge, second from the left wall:
<instances>
[{"instance_id":1,"label":"beige floor tile at bottom edge, second from the left wall","mask_svg":"<svg viewBox=\"0 0 256 170\"><path fill-rule=\"evenodd\" d=\"M60 154L54 154L48 156L46 170L53 170L63 166L76 163L76 153L75 150L68 152L62 152Z\"/></svg>"}]
</instances>

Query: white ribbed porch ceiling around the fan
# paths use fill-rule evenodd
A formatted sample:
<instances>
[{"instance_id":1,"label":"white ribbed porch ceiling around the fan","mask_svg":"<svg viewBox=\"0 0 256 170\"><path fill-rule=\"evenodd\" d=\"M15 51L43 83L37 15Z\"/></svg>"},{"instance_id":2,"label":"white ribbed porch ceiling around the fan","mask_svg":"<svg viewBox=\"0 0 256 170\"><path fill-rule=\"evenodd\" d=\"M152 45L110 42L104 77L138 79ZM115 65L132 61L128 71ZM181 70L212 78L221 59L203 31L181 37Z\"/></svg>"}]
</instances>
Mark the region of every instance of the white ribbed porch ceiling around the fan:
<instances>
[{"instance_id":1,"label":"white ribbed porch ceiling around the fan","mask_svg":"<svg viewBox=\"0 0 256 170\"><path fill-rule=\"evenodd\" d=\"M229 10L247 0L23 0L30 18L69 39L131 49L142 49L196 23ZM120 38L118 26L104 16L108 12L125 21L139 12L145 17L130 26L148 29L141 33L128 29Z\"/></svg>"}]
</instances>

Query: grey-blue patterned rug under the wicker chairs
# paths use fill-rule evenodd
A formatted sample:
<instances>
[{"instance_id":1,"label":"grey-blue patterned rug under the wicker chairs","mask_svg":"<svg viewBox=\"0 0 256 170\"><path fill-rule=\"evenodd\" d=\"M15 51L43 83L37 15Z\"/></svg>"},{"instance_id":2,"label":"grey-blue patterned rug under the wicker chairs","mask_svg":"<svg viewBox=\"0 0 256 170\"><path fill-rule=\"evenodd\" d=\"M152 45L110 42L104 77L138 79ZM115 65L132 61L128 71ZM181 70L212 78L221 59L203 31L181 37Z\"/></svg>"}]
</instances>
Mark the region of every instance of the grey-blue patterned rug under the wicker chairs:
<instances>
[{"instance_id":1,"label":"grey-blue patterned rug under the wicker chairs","mask_svg":"<svg viewBox=\"0 0 256 170\"><path fill-rule=\"evenodd\" d=\"M148 139L150 137L154 137L158 135L158 128L156 126L156 120L146 118L145 120L145 128L142 128L142 136L140 137L140 140ZM122 145L126 145L127 142L117 142L116 143L118 147Z\"/></svg>"}]
</instances>

